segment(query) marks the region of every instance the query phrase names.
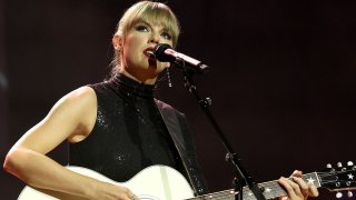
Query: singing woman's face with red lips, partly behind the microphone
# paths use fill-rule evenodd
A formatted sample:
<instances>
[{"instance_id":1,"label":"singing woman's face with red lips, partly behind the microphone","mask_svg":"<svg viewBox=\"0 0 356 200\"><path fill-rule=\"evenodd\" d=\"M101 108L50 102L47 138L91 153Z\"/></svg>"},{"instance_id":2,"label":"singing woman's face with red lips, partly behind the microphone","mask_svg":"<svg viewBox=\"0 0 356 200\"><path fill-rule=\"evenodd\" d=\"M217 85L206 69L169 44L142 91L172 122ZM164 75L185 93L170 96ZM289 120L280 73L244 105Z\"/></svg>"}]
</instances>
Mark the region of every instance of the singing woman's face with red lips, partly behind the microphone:
<instances>
[{"instance_id":1,"label":"singing woman's face with red lips, partly behind the microphone","mask_svg":"<svg viewBox=\"0 0 356 200\"><path fill-rule=\"evenodd\" d=\"M172 46L171 34L161 24L138 22L128 30L122 41L121 67L138 80L157 78L158 73L168 67L167 62L159 62L149 57L147 51L158 43Z\"/></svg>"}]
</instances>

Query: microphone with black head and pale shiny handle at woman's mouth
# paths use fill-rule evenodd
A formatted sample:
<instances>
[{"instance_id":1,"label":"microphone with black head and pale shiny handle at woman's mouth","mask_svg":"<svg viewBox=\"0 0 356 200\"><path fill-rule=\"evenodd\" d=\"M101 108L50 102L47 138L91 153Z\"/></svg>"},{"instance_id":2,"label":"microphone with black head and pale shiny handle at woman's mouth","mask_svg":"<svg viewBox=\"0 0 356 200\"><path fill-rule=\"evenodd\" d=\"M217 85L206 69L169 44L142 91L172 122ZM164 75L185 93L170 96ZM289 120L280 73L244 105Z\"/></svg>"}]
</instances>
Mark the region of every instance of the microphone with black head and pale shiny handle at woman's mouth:
<instances>
[{"instance_id":1,"label":"microphone with black head and pale shiny handle at woman's mouth","mask_svg":"<svg viewBox=\"0 0 356 200\"><path fill-rule=\"evenodd\" d=\"M196 73L205 73L210 71L210 67L201 63L199 60L190 58L186 54L175 51L167 43L159 43L154 50L155 58L161 62L178 62L181 66L191 69Z\"/></svg>"}]
</instances>

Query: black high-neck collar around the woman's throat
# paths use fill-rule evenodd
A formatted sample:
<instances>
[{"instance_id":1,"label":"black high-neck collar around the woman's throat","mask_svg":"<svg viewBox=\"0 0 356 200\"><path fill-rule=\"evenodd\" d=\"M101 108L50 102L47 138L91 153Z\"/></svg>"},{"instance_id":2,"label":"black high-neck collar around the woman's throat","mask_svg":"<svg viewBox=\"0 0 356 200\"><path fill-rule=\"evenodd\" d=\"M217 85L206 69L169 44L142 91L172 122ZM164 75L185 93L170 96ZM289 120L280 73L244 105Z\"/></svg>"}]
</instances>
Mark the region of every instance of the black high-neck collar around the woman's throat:
<instances>
[{"instance_id":1,"label":"black high-neck collar around the woman's throat","mask_svg":"<svg viewBox=\"0 0 356 200\"><path fill-rule=\"evenodd\" d=\"M110 81L109 84L117 91L126 92L132 96L142 98L154 98L155 84L140 83L134 79L128 78L123 73L118 73Z\"/></svg>"}]
</instances>

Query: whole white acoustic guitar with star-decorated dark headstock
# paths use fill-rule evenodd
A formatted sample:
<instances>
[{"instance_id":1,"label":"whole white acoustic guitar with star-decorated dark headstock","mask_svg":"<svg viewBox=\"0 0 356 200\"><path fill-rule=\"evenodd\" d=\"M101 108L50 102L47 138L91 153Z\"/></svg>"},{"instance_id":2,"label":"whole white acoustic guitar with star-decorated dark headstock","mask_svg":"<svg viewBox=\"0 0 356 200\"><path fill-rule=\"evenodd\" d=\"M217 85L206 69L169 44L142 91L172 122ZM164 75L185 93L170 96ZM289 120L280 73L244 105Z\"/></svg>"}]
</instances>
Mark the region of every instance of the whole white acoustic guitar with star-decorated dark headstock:
<instances>
[{"instance_id":1,"label":"whole white acoustic guitar with star-decorated dark headstock","mask_svg":"<svg viewBox=\"0 0 356 200\"><path fill-rule=\"evenodd\" d=\"M235 200L236 192L234 189L208 193L205 196L194 197L194 192L185 179L185 177L177 170L166 166L151 166L127 182L116 182L109 178L92 171L90 169L80 167L67 167L68 169L78 173L111 183L122 184L129 188L140 200ZM303 174L303 179L308 184L314 184L317 188L327 188L330 191L337 191L337 198L340 198L345 191L347 197L353 197L350 190L356 187L355 181L356 166L353 162L348 162L346 167L342 167L338 163L338 168L329 168L324 172L312 172ZM274 199L277 197L286 196L286 191L281 188L277 180L258 183L263 194L266 199ZM19 200L53 200L53 199L83 199L80 197L73 197L66 193L46 191L41 189L33 189L26 187L20 193ZM248 187L244 187L243 190L244 200L256 200L256 197L249 190Z\"/></svg>"}]
</instances>

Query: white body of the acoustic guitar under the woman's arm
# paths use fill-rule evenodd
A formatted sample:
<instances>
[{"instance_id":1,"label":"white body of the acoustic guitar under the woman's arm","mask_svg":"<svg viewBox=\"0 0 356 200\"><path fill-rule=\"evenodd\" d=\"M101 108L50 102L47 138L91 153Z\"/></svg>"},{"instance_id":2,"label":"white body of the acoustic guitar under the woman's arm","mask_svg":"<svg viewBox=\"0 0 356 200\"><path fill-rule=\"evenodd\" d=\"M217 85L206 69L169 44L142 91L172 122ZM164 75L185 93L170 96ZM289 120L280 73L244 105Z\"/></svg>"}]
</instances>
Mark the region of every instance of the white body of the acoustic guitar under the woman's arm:
<instances>
[{"instance_id":1,"label":"white body of the acoustic guitar under the woman's arm","mask_svg":"<svg viewBox=\"0 0 356 200\"><path fill-rule=\"evenodd\" d=\"M81 167L67 167L78 173L129 188L140 200L182 200L194 197L190 184L177 170L166 166L151 166L137 173L129 181L119 183ZM46 194L49 193L49 194ZM18 200L83 199L65 193L26 187Z\"/></svg>"}]
</instances>

